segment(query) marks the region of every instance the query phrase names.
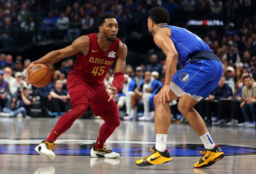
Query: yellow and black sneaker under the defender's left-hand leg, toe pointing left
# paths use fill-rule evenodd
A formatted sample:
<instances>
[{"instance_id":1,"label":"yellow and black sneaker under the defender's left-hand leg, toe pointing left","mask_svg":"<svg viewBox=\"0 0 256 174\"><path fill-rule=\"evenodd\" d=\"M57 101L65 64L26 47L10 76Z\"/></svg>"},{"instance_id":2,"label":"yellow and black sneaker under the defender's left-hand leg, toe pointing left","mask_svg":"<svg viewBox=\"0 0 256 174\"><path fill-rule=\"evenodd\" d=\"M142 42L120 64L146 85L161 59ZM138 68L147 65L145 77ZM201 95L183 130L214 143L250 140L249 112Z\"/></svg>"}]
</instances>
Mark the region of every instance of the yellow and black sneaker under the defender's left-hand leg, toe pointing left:
<instances>
[{"instance_id":1,"label":"yellow and black sneaker under the defender's left-hand leg, toe pointing left","mask_svg":"<svg viewBox=\"0 0 256 174\"><path fill-rule=\"evenodd\" d=\"M169 161L172 161L171 155L168 152L168 149L165 149L164 152L159 152L156 150L155 146L153 148L150 145L151 154L145 156L144 158L136 161L136 165L138 166L150 166L156 164L163 164Z\"/></svg>"}]
</instances>

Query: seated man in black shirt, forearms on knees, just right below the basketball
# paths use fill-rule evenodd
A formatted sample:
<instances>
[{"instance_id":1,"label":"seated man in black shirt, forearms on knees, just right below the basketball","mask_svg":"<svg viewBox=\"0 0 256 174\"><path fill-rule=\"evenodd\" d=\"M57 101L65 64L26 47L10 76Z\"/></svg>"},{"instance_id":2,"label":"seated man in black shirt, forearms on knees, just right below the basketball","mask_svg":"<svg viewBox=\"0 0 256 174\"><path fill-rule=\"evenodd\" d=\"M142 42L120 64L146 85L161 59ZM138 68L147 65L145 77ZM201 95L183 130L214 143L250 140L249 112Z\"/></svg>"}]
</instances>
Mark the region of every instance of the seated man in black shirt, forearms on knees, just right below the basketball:
<instances>
[{"instance_id":1,"label":"seated man in black shirt, forearms on knees, just right below the basketball","mask_svg":"<svg viewBox=\"0 0 256 174\"><path fill-rule=\"evenodd\" d=\"M50 92L52 97L51 112L58 112L58 115L61 116L67 111L66 108L69 94L67 90L62 89L63 85L61 80L56 80L54 87L55 88Z\"/></svg>"}]
</instances>

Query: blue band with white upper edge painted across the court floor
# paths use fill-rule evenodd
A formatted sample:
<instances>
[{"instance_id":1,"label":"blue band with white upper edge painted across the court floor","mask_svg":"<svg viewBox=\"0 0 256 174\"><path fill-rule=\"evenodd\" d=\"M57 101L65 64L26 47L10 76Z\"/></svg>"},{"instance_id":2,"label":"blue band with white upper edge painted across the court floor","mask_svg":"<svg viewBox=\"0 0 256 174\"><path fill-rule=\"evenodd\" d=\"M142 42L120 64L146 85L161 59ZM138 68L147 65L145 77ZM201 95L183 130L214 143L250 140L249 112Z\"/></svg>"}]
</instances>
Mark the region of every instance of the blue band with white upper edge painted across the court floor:
<instances>
[{"instance_id":1,"label":"blue band with white upper edge painted across the court floor","mask_svg":"<svg viewBox=\"0 0 256 174\"><path fill-rule=\"evenodd\" d=\"M38 155L34 149L40 142L41 140L0 140L0 154ZM59 156L90 156L92 142L93 140L57 140L55 143L57 148L53 150ZM201 144L168 143L167 148L172 156L202 156L199 151L204 151L204 146ZM107 142L107 147L121 156L146 156L150 152L149 145L152 144L155 142L111 140ZM226 156L256 155L256 148L252 147L225 144L219 146Z\"/></svg>"}]
</instances>

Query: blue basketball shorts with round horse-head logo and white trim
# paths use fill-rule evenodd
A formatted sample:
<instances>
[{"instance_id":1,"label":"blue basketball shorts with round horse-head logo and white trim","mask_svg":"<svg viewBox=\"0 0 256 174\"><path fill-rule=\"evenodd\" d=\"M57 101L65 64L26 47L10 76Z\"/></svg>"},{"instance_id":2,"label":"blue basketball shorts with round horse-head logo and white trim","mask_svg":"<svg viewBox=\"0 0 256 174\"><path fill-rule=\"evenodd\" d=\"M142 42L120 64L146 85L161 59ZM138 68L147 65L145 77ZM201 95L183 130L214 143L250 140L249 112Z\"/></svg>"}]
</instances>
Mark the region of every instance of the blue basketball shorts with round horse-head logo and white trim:
<instances>
[{"instance_id":1,"label":"blue basketball shorts with round horse-head logo and white trim","mask_svg":"<svg viewBox=\"0 0 256 174\"><path fill-rule=\"evenodd\" d=\"M217 86L223 73L222 63L216 60L199 60L185 64L172 77L171 89L179 97L184 94L200 101L208 97Z\"/></svg>"}]
</instances>

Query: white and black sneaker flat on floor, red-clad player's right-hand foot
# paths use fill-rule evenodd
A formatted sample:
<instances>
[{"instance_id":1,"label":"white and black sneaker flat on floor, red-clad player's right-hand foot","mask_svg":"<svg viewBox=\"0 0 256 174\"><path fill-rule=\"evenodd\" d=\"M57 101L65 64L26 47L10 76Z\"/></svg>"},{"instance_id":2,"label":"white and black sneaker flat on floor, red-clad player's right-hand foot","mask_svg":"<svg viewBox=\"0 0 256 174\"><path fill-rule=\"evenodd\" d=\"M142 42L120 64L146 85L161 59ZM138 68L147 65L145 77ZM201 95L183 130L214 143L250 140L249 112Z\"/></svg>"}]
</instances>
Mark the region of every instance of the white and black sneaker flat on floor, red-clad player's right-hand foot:
<instances>
[{"instance_id":1,"label":"white and black sneaker flat on floor, red-clad player's right-hand foot","mask_svg":"<svg viewBox=\"0 0 256 174\"><path fill-rule=\"evenodd\" d=\"M103 148L96 149L95 143L92 143L91 156L99 158L118 158L120 155L108 148L105 148L107 144L104 144Z\"/></svg>"}]
</instances>

